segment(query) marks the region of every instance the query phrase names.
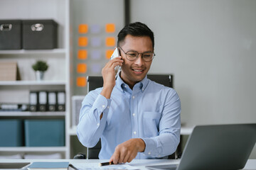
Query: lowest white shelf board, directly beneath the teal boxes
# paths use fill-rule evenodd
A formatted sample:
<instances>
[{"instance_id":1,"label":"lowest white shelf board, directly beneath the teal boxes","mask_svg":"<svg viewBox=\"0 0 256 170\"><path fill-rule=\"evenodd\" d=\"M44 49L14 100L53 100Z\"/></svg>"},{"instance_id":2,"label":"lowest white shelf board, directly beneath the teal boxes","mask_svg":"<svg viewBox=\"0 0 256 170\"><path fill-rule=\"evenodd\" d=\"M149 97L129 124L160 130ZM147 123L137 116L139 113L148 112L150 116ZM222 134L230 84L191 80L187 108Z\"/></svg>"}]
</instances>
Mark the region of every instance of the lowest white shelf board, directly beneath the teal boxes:
<instances>
[{"instance_id":1,"label":"lowest white shelf board, directly beneath the teal boxes","mask_svg":"<svg viewBox=\"0 0 256 170\"><path fill-rule=\"evenodd\" d=\"M0 152L65 152L65 147L0 147Z\"/></svg>"}]
</instances>

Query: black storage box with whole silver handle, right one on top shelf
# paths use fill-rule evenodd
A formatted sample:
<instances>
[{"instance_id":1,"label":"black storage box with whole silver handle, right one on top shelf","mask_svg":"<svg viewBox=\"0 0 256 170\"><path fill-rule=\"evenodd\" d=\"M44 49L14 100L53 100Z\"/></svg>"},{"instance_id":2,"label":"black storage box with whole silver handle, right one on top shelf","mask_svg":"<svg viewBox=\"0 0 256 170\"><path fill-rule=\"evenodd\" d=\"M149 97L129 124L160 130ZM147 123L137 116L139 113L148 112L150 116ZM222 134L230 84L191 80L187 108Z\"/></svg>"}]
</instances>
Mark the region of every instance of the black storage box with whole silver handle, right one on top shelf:
<instances>
[{"instance_id":1,"label":"black storage box with whole silver handle, right one on top shelf","mask_svg":"<svg viewBox=\"0 0 256 170\"><path fill-rule=\"evenodd\" d=\"M43 50L57 48L57 27L53 20L23 21L23 49Z\"/></svg>"}]
</instances>

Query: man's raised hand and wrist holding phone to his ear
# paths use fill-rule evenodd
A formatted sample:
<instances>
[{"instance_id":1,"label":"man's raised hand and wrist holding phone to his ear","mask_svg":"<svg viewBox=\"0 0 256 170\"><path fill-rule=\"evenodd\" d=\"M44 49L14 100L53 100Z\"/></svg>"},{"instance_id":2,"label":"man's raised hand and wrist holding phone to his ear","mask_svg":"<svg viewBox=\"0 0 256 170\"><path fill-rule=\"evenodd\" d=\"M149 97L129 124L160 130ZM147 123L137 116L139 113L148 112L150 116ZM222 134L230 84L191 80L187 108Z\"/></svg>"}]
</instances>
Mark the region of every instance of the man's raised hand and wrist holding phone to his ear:
<instances>
[{"instance_id":1,"label":"man's raised hand and wrist holding phone to his ear","mask_svg":"<svg viewBox=\"0 0 256 170\"><path fill-rule=\"evenodd\" d=\"M107 62L105 67L102 69L102 77L103 77L103 89L100 93L105 98L110 98L112 90L115 86L115 72L114 67L119 65L122 66L124 61L121 59L121 56L114 58Z\"/></svg>"}]
</instances>

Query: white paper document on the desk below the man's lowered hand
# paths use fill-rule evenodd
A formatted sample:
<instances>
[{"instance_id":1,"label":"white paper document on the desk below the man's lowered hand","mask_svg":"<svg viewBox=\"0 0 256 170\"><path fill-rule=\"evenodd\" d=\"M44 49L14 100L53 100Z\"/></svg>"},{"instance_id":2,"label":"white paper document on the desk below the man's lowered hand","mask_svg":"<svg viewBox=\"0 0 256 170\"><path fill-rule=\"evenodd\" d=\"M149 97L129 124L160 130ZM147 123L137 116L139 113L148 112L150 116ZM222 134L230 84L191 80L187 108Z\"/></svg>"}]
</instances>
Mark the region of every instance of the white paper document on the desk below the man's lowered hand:
<instances>
[{"instance_id":1,"label":"white paper document on the desk below the man's lowered hand","mask_svg":"<svg viewBox=\"0 0 256 170\"><path fill-rule=\"evenodd\" d=\"M79 170L101 170L101 169L138 169L135 166L130 166L128 164L114 164L107 166L100 166L99 163L90 163L90 164L73 164L75 168Z\"/></svg>"}]
</instances>

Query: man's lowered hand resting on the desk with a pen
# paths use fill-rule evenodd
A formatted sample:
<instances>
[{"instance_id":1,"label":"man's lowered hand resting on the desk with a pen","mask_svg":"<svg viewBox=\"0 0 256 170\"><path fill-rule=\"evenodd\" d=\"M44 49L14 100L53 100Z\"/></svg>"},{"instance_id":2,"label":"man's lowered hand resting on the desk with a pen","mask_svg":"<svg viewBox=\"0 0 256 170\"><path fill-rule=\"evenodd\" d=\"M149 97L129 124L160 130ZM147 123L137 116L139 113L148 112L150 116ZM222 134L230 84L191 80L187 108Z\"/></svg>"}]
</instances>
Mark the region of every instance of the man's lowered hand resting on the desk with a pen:
<instances>
[{"instance_id":1,"label":"man's lowered hand resting on the desk with a pen","mask_svg":"<svg viewBox=\"0 0 256 170\"><path fill-rule=\"evenodd\" d=\"M114 149L114 154L110 158L110 162L126 163L131 162L137 156L138 152L144 152L146 145L140 138L132 138L117 145Z\"/></svg>"}]
</instances>

